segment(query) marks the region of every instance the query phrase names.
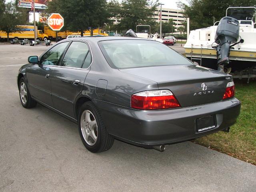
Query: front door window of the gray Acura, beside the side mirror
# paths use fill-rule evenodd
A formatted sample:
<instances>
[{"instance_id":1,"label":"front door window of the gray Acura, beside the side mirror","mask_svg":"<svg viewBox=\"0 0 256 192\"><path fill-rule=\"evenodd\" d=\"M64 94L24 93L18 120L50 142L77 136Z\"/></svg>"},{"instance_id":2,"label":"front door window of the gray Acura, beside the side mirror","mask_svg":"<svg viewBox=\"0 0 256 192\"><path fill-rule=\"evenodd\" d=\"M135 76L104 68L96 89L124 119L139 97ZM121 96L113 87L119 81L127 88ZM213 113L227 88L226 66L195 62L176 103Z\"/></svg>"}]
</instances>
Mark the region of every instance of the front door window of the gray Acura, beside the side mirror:
<instances>
[{"instance_id":1,"label":"front door window of the gray Acura, beside the side mirror","mask_svg":"<svg viewBox=\"0 0 256 192\"><path fill-rule=\"evenodd\" d=\"M50 49L41 58L42 65L58 65L58 60L69 42L63 42Z\"/></svg>"}]
</instances>

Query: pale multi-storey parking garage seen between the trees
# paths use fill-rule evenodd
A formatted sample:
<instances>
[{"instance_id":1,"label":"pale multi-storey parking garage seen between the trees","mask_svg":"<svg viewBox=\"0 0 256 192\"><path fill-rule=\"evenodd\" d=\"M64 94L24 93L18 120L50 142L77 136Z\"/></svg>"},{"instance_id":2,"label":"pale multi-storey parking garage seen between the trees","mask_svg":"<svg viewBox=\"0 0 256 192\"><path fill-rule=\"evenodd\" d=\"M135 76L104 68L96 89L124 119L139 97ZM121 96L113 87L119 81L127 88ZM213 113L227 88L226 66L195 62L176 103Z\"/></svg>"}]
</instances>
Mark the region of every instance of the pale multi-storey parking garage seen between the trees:
<instances>
[{"instance_id":1,"label":"pale multi-storey parking garage seen between the trees","mask_svg":"<svg viewBox=\"0 0 256 192\"><path fill-rule=\"evenodd\" d=\"M154 12L154 20L160 22L160 7ZM176 24L175 30L178 31L179 27L183 27L182 22L186 21L186 17L183 15L183 11L179 9L162 8L162 22L168 22L169 19L173 19Z\"/></svg>"}]
</instances>

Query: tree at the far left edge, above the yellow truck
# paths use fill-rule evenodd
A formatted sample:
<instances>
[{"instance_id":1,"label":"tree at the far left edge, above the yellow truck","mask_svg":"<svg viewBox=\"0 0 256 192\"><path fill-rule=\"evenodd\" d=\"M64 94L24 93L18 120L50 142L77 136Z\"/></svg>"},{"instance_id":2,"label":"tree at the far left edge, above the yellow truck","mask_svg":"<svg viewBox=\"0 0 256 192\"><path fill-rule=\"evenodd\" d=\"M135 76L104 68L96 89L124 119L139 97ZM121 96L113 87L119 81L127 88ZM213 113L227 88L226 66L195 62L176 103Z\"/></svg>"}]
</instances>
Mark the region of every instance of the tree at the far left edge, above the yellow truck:
<instances>
[{"instance_id":1,"label":"tree at the far left edge, above the yellow truck","mask_svg":"<svg viewBox=\"0 0 256 192\"><path fill-rule=\"evenodd\" d=\"M9 41L9 34L12 32L20 31L18 25L24 24L24 16L22 12L19 12L18 7L15 3L9 2L2 4L1 1L0 7L4 6L4 12L2 12L0 20L0 30L7 33L7 42ZM1 11L1 8L0 8ZM1 14L1 13L0 13Z\"/></svg>"}]
</instances>

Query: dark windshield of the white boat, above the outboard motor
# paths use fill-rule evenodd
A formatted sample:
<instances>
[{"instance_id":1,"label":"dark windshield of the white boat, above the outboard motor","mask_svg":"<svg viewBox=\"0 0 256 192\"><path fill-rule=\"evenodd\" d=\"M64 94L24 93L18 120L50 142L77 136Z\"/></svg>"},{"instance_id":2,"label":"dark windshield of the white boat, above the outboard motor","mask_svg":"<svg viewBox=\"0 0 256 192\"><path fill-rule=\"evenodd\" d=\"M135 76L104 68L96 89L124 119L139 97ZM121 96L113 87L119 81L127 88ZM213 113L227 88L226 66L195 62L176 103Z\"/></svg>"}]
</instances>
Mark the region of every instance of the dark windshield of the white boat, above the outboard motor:
<instances>
[{"instance_id":1,"label":"dark windshield of the white boat, above the outboard motor","mask_svg":"<svg viewBox=\"0 0 256 192\"><path fill-rule=\"evenodd\" d=\"M228 8L227 15L237 20L255 21L255 8Z\"/></svg>"}]
</instances>

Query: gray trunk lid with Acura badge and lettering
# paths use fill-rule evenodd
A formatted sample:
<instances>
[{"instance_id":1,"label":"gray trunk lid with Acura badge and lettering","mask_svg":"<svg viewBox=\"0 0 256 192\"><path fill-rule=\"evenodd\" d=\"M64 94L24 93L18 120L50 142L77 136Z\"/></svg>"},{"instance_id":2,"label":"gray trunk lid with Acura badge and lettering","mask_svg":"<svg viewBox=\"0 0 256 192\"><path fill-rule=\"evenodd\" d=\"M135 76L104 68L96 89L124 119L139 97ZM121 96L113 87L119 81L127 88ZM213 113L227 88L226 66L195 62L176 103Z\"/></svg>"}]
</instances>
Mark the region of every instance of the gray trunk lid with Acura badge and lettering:
<instances>
[{"instance_id":1,"label":"gray trunk lid with Acura badge and lettering","mask_svg":"<svg viewBox=\"0 0 256 192\"><path fill-rule=\"evenodd\" d=\"M120 69L122 72L147 78L168 89L182 107L222 100L228 80L232 77L197 65L154 66Z\"/></svg>"}]
</instances>

